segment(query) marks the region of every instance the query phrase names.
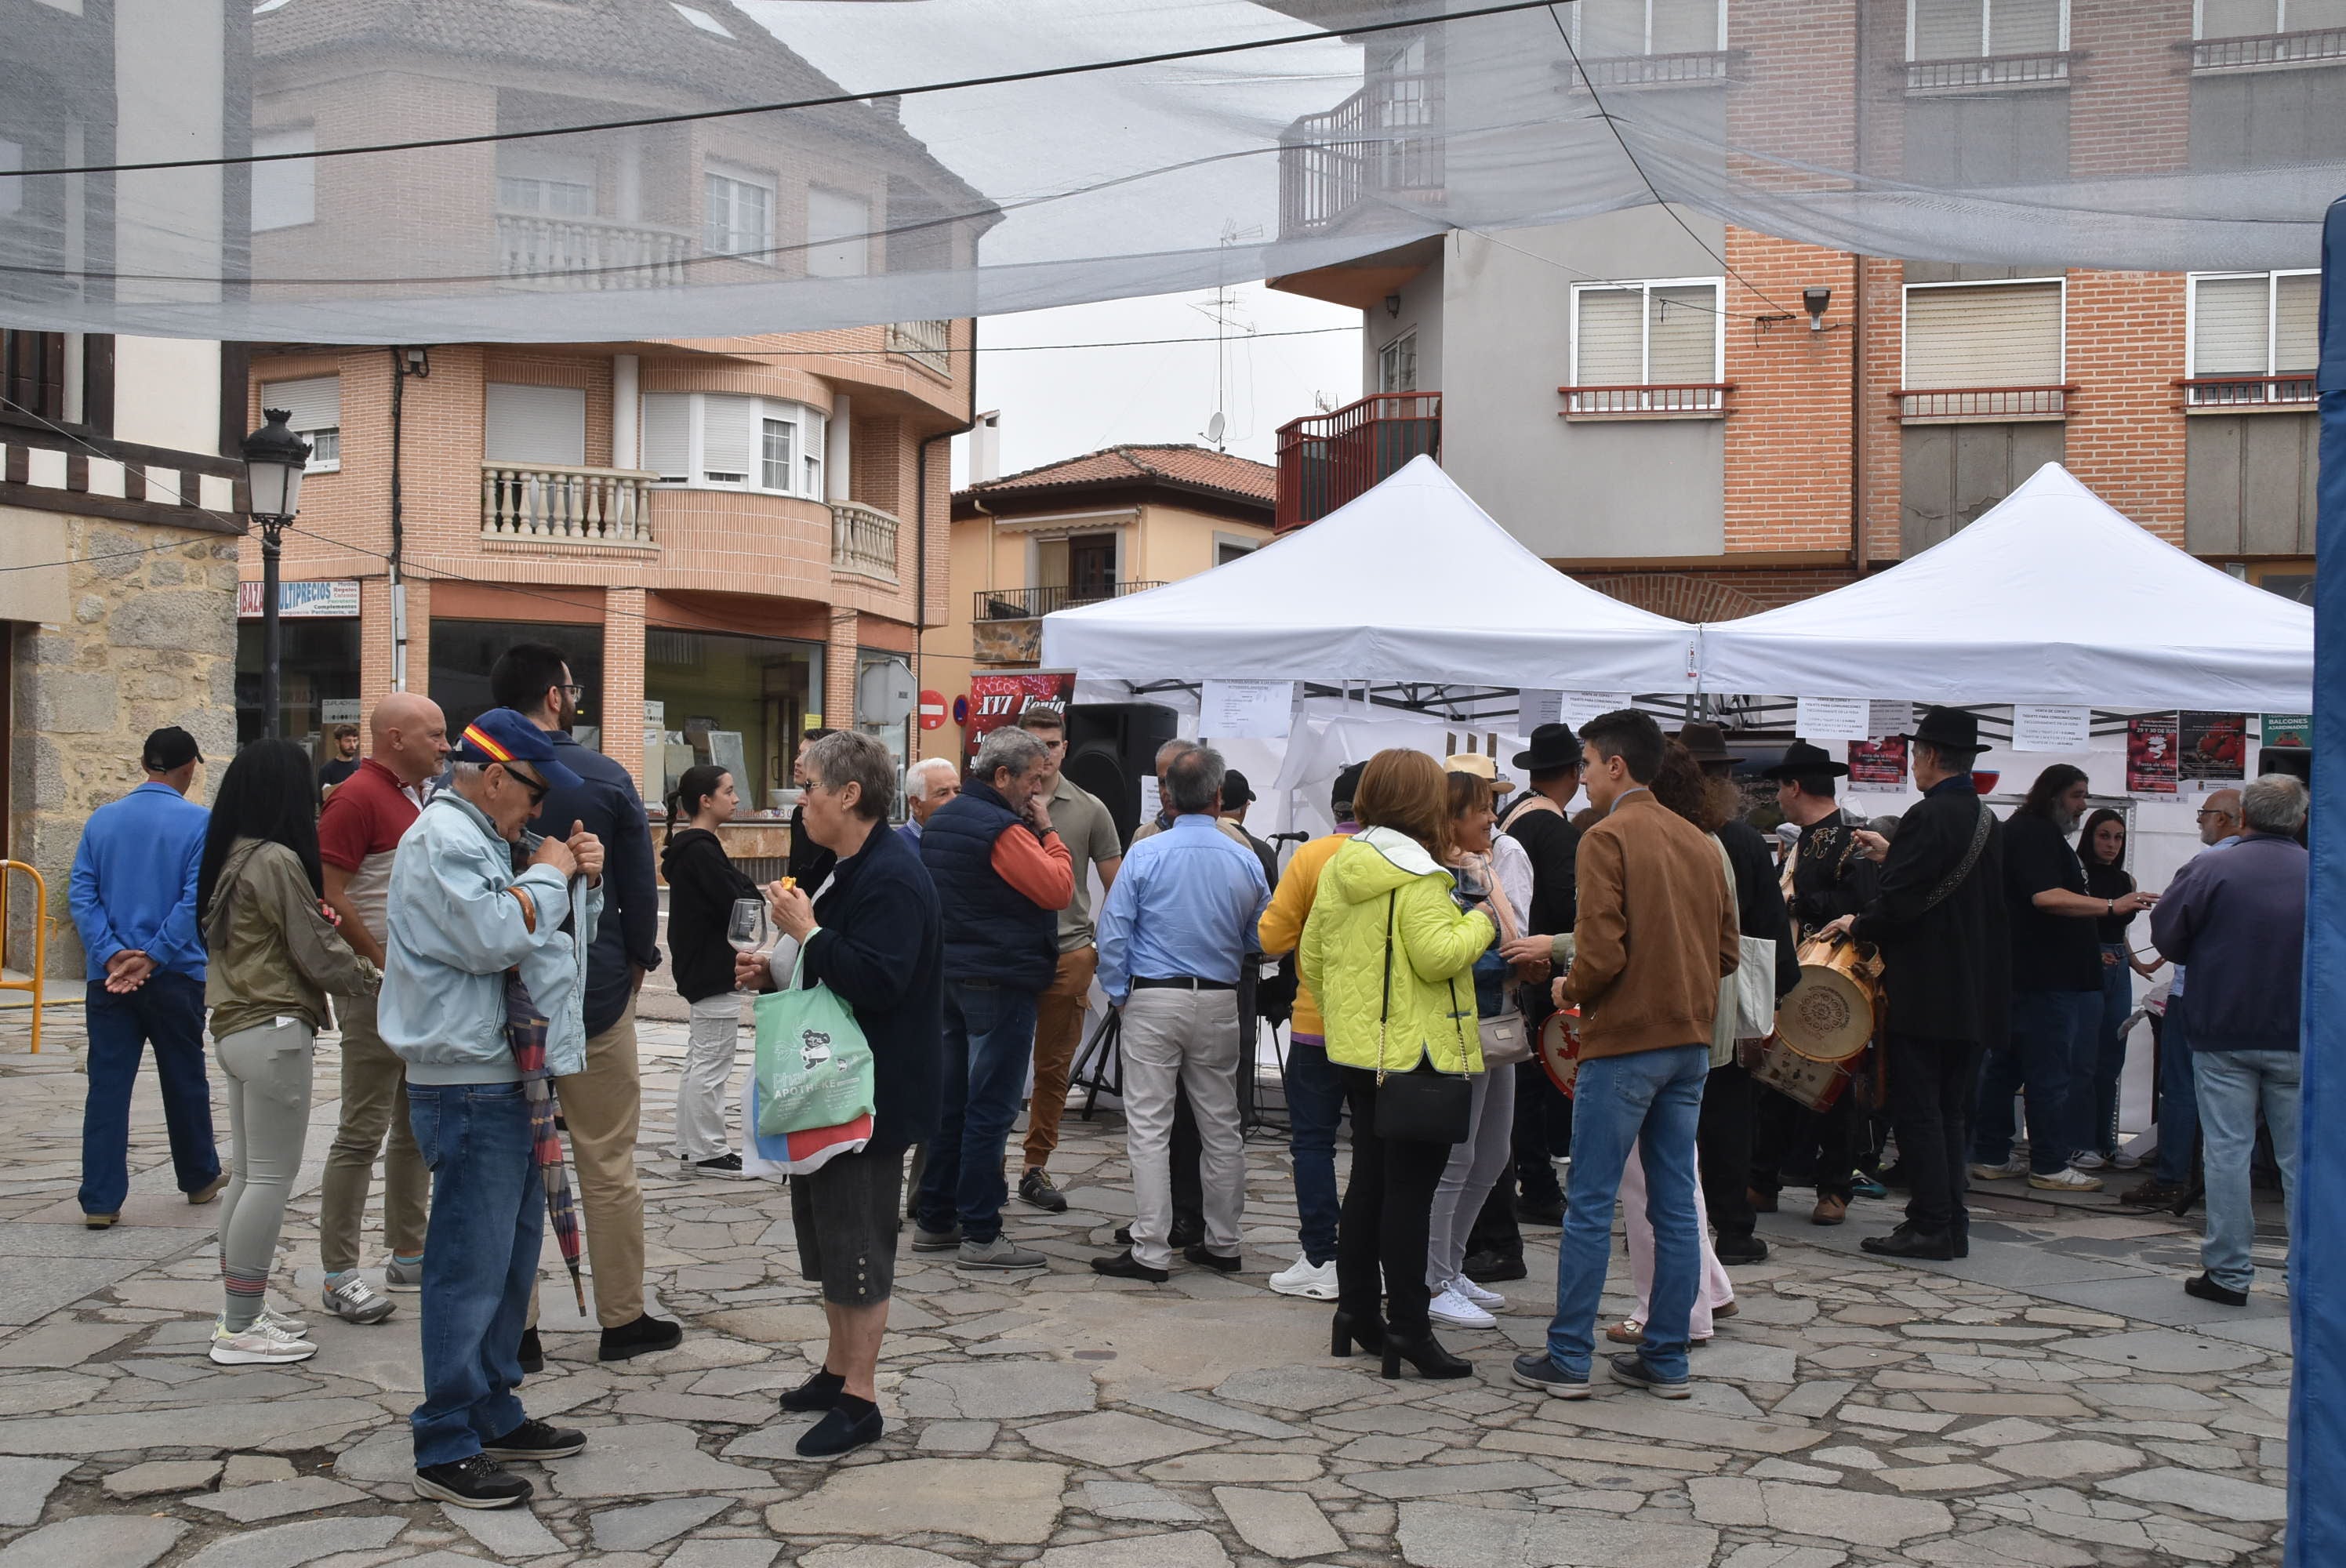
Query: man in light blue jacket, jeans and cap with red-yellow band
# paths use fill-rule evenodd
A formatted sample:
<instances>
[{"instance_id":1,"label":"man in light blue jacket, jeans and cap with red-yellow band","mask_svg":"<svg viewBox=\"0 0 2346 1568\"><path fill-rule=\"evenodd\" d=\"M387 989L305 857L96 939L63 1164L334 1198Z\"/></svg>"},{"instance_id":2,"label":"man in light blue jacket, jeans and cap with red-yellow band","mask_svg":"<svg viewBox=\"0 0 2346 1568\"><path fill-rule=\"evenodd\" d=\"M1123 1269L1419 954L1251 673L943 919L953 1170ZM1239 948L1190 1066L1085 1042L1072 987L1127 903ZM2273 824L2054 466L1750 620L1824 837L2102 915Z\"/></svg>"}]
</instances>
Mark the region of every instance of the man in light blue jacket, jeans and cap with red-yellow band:
<instances>
[{"instance_id":1,"label":"man in light blue jacket, jeans and cap with red-yellow band","mask_svg":"<svg viewBox=\"0 0 2346 1568\"><path fill-rule=\"evenodd\" d=\"M481 714L450 761L450 786L399 840L375 1005L382 1042L408 1063L408 1122L432 1169L425 1399L408 1420L418 1495L518 1507L533 1488L497 1460L565 1458L586 1437L526 1418L514 1399L544 1183L504 1033L504 976L518 974L547 1019L549 1070L577 1073L603 845L584 829L568 843L523 833L547 791L577 775L521 714Z\"/></svg>"}]
</instances>

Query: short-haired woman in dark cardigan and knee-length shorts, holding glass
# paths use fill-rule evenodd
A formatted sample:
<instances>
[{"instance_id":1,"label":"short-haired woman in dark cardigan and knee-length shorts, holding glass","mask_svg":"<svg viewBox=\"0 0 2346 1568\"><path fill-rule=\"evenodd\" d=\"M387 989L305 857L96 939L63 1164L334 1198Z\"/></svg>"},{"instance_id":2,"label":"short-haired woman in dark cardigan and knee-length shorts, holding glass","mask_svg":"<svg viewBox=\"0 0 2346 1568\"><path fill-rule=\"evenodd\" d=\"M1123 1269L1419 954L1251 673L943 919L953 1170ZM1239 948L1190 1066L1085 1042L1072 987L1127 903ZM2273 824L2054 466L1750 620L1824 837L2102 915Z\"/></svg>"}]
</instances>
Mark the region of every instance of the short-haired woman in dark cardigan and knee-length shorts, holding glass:
<instances>
[{"instance_id":1,"label":"short-haired woman in dark cardigan and knee-length shorts, holding glass","mask_svg":"<svg viewBox=\"0 0 2346 1568\"><path fill-rule=\"evenodd\" d=\"M830 887L812 904L798 887L767 887L774 925L802 946L807 984L854 1007L873 1052L873 1136L791 1178L800 1272L823 1286L830 1343L823 1368L781 1397L784 1411L821 1411L798 1439L805 1458L830 1458L880 1437L873 1373L896 1275L903 1150L936 1131L945 991L936 890L920 857L887 831L896 763L870 735L838 732L807 746L807 833L838 854ZM788 984L744 953L744 984Z\"/></svg>"}]
</instances>

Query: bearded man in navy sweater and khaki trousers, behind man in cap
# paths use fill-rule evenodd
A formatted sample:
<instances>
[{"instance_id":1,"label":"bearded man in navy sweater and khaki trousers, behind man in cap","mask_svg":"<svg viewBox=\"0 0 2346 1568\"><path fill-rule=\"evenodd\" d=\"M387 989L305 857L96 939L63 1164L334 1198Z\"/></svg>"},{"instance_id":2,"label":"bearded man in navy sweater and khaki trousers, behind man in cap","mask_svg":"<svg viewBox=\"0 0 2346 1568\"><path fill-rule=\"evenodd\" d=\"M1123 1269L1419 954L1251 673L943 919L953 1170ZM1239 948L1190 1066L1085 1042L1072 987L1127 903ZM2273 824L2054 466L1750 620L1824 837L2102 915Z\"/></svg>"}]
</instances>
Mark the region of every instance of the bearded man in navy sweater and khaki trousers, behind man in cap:
<instances>
[{"instance_id":1,"label":"bearded man in navy sweater and khaki trousers, behind man in cap","mask_svg":"<svg viewBox=\"0 0 2346 1568\"><path fill-rule=\"evenodd\" d=\"M570 838L577 824L603 845L603 918L586 948L586 1066L556 1080L570 1155L586 1211L594 1263L594 1314L603 1326L598 1357L671 1350L685 1331L643 1310L643 1185L636 1181L636 1129L643 1077L636 1066L636 991L659 967L659 883L652 878L652 824L626 768L570 737L584 688L547 643L514 643L488 671L497 707L518 709L554 742L554 756L577 775L556 782L530 822L533 833ZM561 775L556 775L558 779ZM540 1359L537 1329L523 1340L523 1371Z\"/></svg>"}]
</instances>

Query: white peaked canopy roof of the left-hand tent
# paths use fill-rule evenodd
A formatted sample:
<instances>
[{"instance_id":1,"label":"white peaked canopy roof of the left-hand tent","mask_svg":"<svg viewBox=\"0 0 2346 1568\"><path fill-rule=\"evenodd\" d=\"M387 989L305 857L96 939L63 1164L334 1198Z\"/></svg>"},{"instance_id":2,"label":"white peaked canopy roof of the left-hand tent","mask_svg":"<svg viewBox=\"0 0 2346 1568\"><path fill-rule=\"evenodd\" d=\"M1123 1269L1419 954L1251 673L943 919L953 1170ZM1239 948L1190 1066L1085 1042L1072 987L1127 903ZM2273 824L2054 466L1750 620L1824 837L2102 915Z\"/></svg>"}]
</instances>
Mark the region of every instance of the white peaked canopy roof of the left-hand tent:
<instances>
[{"instance_id":1,"label":"white peaked canopy roof of the left-hand tent","mask_svg":"<svg viewBox=\"0 0 2346 1568\"><path fill-rule=\"evenodd\" d=\"M1459 702L1473 688L1654 695L1694 690L1691 653L1694 627L1553 570L1431 458L1243 561L1042 622L1046 669L1135 688L1368 681L1443 688ZM1438 692L1415 704L1445 707Z\"/></svg>"}]
</instances>

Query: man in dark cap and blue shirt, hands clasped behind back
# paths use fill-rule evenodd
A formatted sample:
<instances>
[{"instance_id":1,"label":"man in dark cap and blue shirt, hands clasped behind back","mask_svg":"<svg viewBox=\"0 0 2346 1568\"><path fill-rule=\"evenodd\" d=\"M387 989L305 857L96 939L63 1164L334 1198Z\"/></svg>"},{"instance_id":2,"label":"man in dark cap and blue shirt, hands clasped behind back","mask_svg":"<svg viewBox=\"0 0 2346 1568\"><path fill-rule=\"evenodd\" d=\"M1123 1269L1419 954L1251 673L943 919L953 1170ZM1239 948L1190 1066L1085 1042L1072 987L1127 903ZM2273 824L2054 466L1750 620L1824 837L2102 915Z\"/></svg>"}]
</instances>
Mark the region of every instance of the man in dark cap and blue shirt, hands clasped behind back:
<instances>
[{"instance_id":1,"label":"man in dark cap and blue shirt, hands clasped behind back","mask_svg":"<svg viewBox=\"0 0 2346 1568\"><path fill-rule=\"evenodd\" d=\"M73 852L73 925L89 976L89 1099L82 1106L82 1223L106 1230L129 1192L131 1084L155 1042L171 1167L190 1204L228 1185L204 1077L204 941L195 873L211 812L188 798L204 753L171 725L145 739L148 782L101 805Z\"/></svg>"}]
</instances>

